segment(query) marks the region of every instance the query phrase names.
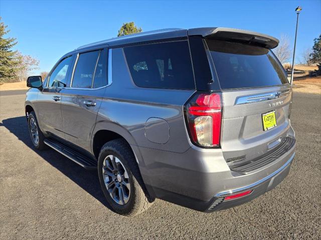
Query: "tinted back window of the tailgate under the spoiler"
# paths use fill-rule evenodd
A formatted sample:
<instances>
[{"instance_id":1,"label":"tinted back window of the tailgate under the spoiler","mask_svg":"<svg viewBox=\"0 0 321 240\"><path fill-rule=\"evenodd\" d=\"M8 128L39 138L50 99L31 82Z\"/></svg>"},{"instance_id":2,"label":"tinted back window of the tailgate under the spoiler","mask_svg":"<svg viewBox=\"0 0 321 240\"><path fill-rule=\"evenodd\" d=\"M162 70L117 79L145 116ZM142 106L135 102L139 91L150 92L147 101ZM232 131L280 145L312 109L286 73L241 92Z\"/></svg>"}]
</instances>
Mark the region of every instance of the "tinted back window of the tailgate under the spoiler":
<instances>
[{"instance_id":1,"label":"tinted back window of the tailgate under the spoiler","mask_svg":"<svg viewBox=\"0 0 321 240\"><path fill-rule=\"evenodd\" d=\"M288 83L285 72L266 48L236 42L207 40L222 89Z\"/></svg>"}]
</instances>

